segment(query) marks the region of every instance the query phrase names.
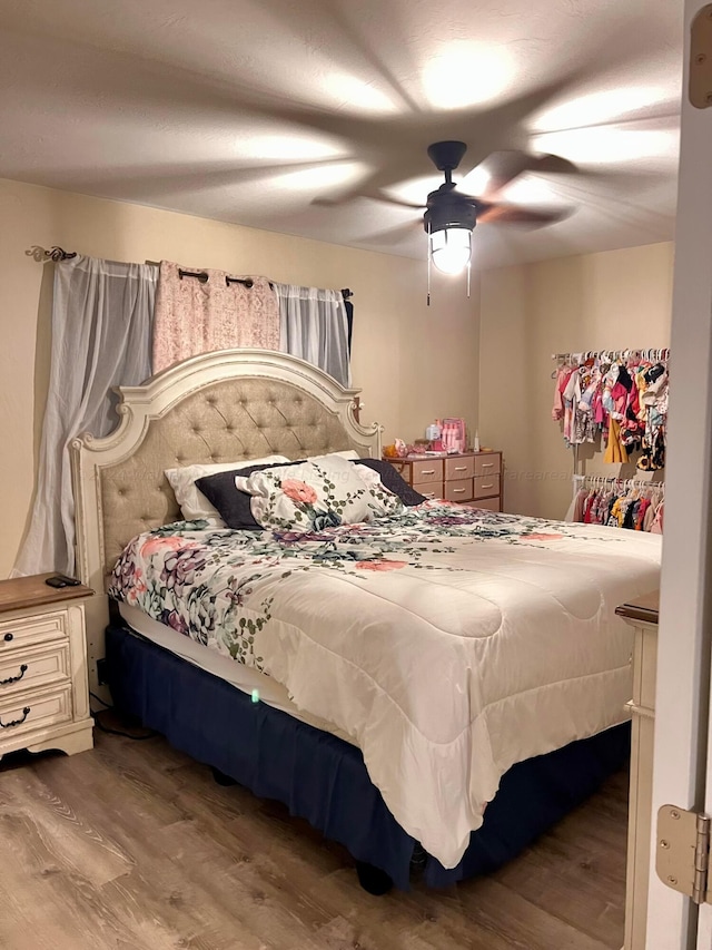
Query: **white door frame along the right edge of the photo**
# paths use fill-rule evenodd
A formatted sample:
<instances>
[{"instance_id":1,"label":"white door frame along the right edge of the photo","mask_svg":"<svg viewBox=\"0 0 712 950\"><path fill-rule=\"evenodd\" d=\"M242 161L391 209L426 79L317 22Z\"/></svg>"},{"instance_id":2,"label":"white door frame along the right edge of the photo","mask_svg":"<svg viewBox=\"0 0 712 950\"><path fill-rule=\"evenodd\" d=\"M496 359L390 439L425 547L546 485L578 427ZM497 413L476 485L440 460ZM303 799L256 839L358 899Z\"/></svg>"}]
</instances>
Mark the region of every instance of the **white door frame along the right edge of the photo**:
<instances>
[{"instance_id":1,"label":"white door frame along the right edge of the photo","mask_svg":"<svg viewBox=\"0 0 712 950\"><path fill-rule=\"evenodd\" d=\"M701 0L685 0L685 57L671 334L670 439L655 709L652 861L663 804L706 809L710 735L710 463L712 460L712 107L690 104L690 36ZM708 55L712 63L712 52ZM694 68L694 67L693 67ZM709 92L712 97L712 84ZM708 601L705 604L705 600ZM706 760L706 761L705 761ZM706 795L706 800L705 800ZM710 950L698 910L651 868L646 950ZM699 930L699 943L698 943Z\"/></svg>"}]
</instances>

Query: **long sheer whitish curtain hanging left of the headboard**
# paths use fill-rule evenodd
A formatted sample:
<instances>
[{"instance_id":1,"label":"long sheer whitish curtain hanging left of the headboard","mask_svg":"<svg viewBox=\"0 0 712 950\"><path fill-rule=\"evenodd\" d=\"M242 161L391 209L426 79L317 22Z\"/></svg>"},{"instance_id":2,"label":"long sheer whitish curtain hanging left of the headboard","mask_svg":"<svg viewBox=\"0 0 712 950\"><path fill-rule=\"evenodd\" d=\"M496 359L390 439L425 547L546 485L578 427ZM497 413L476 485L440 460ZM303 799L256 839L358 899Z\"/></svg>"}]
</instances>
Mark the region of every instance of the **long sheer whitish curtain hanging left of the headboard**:
<instances>
[{"instance_id":1,"label":"long sheer whitish curtain hanging left of the headboard","mask_svg":"<svg viewBox=\"0 0 712 950\"><path fill-rule=\"evenodd\" d=\"M49 393L32 521L12 576L75 571L69 443L118 423L111 388L150 376L158 267L75 257L57 264Z\"/></svg>"}]
</instances>

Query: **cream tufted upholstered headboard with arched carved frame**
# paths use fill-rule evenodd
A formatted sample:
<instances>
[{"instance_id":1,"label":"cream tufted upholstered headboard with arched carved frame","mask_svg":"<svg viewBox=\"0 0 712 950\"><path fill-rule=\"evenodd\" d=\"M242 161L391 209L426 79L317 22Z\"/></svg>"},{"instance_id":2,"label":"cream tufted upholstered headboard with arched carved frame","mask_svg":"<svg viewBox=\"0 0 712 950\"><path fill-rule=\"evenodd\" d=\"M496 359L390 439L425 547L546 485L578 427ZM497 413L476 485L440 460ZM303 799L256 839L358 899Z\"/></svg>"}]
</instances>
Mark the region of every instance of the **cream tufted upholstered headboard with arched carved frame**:
<instances>
[{"instance_id":1,"label":"cream tufted upholstered headboard with arched carved frame","mask_svg":"<svg viewBox=\"0 0 712 950\"><path fill-rule=\"evenodd\" d=\"M120 388L118 428L71 444L82 581L103 592L132 537L180 517L165 469L343 449L379 457L380 427L355 420L358 393L304 360L267 350L194 356L144 385ZM99 657L103 620L97 624L89 642Z\"/></svg>"}]
</instances>

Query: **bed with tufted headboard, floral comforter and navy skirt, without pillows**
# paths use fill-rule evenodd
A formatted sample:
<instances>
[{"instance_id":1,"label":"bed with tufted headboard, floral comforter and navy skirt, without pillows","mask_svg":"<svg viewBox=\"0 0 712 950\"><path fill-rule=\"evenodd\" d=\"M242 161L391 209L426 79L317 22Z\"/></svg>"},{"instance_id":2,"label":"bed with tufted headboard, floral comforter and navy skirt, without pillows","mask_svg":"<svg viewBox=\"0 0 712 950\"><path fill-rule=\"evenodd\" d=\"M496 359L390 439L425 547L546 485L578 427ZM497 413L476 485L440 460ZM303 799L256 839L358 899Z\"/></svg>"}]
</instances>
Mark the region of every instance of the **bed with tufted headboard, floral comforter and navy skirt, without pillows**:
<instances>
[{"instance_id":1,"label":"bed with tufted headboard, floral comforter and navy skirt, without pillows","mask_svg":"<svg viewBox=\"0 0 712 950\"><path fill-rule=\"evenodd\" d=\"M121 390L117 431L72 445L81 577L120 601L90 619L90 676L106 657L118 706L340 841L365 885L442 885L624 761L614 609L656 588L660 539L431 502L296 535L181 520L175 466L378 458L357 396L261 351Z\"/></svg>"}]
</instances>

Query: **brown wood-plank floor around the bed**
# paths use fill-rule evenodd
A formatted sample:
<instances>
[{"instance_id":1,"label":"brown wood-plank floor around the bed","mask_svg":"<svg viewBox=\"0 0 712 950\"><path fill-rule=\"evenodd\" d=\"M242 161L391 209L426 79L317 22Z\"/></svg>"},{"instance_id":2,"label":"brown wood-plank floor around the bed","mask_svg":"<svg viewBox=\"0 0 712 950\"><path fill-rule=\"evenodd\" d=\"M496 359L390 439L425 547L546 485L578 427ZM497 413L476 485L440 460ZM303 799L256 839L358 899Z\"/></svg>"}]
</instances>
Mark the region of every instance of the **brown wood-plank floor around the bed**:
<instances>
[{"instance_id":1,"label":"brown wood-plank floor around the bed","mask_svg":"<svg viewBox=\"0 0 712 950\"><path fill-rule=\"evenodd\" d=\"M624 774L497 874L374 898L280 805L162 738L0 764L3 950L619 950Z\"/></svg>"}]
</instances>

